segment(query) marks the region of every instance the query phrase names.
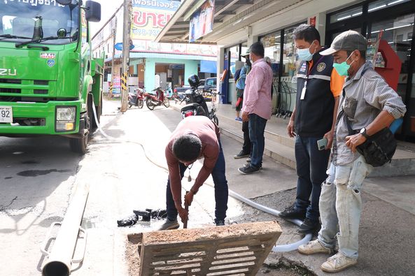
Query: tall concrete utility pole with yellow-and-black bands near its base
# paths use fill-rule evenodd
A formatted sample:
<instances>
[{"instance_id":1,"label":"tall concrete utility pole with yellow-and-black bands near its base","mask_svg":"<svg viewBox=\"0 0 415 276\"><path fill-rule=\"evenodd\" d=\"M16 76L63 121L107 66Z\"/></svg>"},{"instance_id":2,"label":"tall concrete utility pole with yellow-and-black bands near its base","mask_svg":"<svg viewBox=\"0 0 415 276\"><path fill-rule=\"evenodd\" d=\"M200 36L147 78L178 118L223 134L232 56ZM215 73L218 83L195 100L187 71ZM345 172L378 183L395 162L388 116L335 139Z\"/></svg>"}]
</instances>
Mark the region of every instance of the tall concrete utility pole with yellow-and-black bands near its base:
<instances>
[{"instance_id":1,"label":"tall concrete utility pole with yellow-and-black bands near its base","mask_svg":"<svg viewBox=\"0 0 415 276\"><path fill-rule=\"evenodd\" d=\"M122 75L121 75L121 112L128 109L128 71L129 71L129 44L131 38L131 0L124 0L124 24L122 27Z\"/></svg>"}]
</instances>

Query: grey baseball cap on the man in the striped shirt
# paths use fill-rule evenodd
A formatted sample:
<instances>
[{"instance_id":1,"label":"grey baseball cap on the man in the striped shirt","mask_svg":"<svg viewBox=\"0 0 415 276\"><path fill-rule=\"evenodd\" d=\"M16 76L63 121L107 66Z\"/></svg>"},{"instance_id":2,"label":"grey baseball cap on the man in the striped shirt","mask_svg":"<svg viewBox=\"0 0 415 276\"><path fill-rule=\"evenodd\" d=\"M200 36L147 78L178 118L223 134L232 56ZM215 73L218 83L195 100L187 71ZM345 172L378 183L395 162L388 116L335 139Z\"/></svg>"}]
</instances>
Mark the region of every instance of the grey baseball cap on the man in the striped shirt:
<instances>
[{"instance_id":1,"label":"grey baseball cap on the man in the striped shirt","mask_svg":"<svg viewBox=\"0 0 415 276\"><path fill-rule=\"evenodd\" d=\"M335 37L335 40L332 42L330 48L320 52L319 54L327 56L332 55L339 50L365 51L367 50L366 38L359 34L357 31L344 31L342 34L339 34Z\"/></svg>"}]
</instances>

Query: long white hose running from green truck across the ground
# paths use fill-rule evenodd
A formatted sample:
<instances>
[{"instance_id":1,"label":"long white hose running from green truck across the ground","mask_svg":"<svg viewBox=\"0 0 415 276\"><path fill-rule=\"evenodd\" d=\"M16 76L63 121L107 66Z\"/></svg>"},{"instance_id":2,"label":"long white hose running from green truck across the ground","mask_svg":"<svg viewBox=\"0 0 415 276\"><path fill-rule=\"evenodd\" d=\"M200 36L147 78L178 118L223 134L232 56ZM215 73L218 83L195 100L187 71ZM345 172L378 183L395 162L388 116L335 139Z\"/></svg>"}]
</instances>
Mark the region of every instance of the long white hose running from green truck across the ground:
<instances>
[{"instance_id":1,"label":"long white hose running from green truck across the ground","mask_svg":"<svg viewBox=\"0 0 415 276\"><path fill-rule=\"evenodd\" d=\"M144 155L146 156L146 158L148 159L148 161L150 161L151 163L153 163L155 166L159 167L159 168L163 168L164 170L168 170L168 168L166 168L164 165L162 164L158 164L156 161L153 161L152 159L150 159L150 157L148 157L147 153L146 153L146 149L144 148L144 146L136 141L131 141L131 140L122 140L122 139L118 139L118 138L114 138L109 136L108 134L106 134L104 132L104 130L101 129L101 126L98 122L98 118L97 118L97 110L95 110L95 105L92 104L92 110L94 111L94 119L95 122L97 123L97 127L99 132L105 137L108 138L108 140L117 140L119 142L125 142L125 143L134 143L137 145L140 145L143 148L143 152ZM204 184L207 184L210 187L214 187L212 183L210 182L204 182ZM235 191L232 191L231 189L229 190L229 196L232 196L232 198L235 198L243 203L246 203L247 205L250 205L253 208L256 208L258 210L261 210L263 212L267 212L271 215L275 215L275 216L279 216L280 211L278 210L274 210L272 208L269 208L267 206L261 205L259 203L256 203L255 201L251 201L251 199L249 198L245 198L244 196L241 196L240 194L238 194ZM297 226L300 226L302 224L302 221L300 221L300 219L288 219L288 221L292 222L293 224L297 224ZM304 238L302 238L302 240L299 240L298 242L294 242L294 243L290 243L288 245L275 245L274 247L272 247L272 252L290 252L293 250L297 250L298 247L300 245L305 245L307 244L307 242L309 242L311 240L313 235L311 234L307 234L304 236Z\"/></svg>"}]
</instances>

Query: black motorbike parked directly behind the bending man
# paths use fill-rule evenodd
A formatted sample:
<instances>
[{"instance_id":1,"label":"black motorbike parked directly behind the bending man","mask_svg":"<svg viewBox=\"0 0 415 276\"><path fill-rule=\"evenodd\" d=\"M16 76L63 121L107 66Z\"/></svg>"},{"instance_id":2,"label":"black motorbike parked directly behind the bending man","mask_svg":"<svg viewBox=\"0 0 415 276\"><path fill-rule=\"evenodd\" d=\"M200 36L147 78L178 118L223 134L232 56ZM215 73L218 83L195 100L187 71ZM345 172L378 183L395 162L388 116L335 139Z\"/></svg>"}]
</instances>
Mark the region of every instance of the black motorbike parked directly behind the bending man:
<instances>
[{"instance_id":1,"label":"black motorbike parked directly behind the bending man","mask_svg":"<svg viewBox=\"0 0 415 276\"><path fill-rule=\"evenodd\" d=\"M183 108L181 108L182 118L184 119L188 116L203 115L209 117L209 119L211 119L212 122L218 125L219 119L215 114L216 110L218 110L218 107L216 105L218 93L211 91L212 108L211 110L209 110L209 108L206 105L206 100L204 99L204 96L197 89L197 87L199 86L199 77L197 77L197 75L190 75L188 82L191 88L186 91L185 96L188 99L188 101L186 102L189 103Z\"/></svg>"}]
</instances>

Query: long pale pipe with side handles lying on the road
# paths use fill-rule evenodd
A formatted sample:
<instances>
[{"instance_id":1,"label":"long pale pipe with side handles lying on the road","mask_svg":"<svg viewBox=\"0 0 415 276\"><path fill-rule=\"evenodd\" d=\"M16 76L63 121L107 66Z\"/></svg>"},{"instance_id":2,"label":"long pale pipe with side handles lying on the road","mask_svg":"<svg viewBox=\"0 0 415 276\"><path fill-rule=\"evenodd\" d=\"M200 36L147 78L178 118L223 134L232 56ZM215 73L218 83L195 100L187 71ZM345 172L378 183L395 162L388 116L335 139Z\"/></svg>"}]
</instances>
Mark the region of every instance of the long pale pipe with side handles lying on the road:
<instances>
[{"instance_id":1,"label":"long pale pipe with side handles lying on the road","mask_svg":"<svg viewBox=\"0 0 415 276\"><path fill-rule=\"evenodd\" d=\"M78 233L83 233L86 248L86 232L80 227L83 212L87 203L89 194L89 187L87 184L78 184L69 205L64 220L61 222L54 222L50 226L48 236L43 242L41 252L48 256L48 261L42 269L43 276L67 276L71 274L71 266L73 263L80 263L81 259L74 260L73 253L75 251L76 242L78 240ZM52 230L55 226L61 225L55 242L53 243L51 252L46 251L46 245L51 238ZM85 248L83 255L85 255Z\"/></svg>"}]
</instances>

